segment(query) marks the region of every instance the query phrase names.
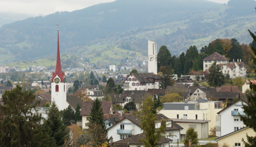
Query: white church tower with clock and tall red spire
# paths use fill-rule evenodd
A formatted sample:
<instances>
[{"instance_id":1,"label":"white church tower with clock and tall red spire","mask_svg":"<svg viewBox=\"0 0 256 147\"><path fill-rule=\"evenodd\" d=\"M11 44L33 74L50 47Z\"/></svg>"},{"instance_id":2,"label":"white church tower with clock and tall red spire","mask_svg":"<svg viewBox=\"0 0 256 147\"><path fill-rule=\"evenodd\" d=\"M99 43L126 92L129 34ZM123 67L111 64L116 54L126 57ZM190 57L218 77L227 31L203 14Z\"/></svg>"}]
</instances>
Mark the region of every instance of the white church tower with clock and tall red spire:
<instances>
[{"instance_id":1,"label":"white church tower with clock and tall red spire","mask_svg":"<svg viewBox=\"0 0 256 147\"><path fill-rule=\"evenodd\" d=\"M66 78L65 73L62 72L60 55L59 55L59 28L57 29L57 61L56 69L51 77L51 102L55 101L59 110L68 108L66 101Z\"/></svg>"}]
</instances>

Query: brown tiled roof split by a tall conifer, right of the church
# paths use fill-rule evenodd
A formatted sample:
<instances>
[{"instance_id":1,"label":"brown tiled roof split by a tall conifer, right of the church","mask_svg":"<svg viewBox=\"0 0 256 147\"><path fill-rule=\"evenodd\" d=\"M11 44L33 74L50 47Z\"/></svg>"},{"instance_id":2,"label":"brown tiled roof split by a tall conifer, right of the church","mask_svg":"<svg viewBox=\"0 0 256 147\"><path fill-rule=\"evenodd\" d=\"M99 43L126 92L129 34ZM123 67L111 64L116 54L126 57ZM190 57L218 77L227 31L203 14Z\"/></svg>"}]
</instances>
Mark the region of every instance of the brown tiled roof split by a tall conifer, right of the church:
<instances>
[{"instance_id":1,"label":"brown tiled roof split by a tall conifer, right of the church","mask_svg":"<svg viewBox=\"0 0 256 147\"><path fill-rule=\"evenodd\" d=\"M94 101L84 101L81 106L80 116L90 115L91 107L93 106ZM103 109L103 114L110 112L112 106L112 101L101 101L101 108Z\"/></svg>"}]
</instances>

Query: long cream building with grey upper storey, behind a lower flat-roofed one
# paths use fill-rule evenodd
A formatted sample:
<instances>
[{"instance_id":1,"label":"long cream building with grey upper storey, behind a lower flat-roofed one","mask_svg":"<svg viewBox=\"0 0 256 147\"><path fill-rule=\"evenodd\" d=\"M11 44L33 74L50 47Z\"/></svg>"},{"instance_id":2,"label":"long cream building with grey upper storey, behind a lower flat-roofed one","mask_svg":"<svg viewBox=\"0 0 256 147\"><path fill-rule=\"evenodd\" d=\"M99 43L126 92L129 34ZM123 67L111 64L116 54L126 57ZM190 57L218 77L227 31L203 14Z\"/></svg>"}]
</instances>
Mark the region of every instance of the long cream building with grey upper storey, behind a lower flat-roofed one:
<instances>
[{"instance_id":1,"label":"long cream building with grey upper storey, behind a lower flat-roofed one","mask_svg":"<svg viewBox=\"0 0 256 147\"><path fill-rule=\"evenodd\" d=\"M207 121L208 131L215 127L217 112L224 108L222 101L208 101L197 99L197 101L165 102L163 109L159 112L170 119L191 119ZM210 120L210 121L208 121Z\"/></svg>"}]
</instances>

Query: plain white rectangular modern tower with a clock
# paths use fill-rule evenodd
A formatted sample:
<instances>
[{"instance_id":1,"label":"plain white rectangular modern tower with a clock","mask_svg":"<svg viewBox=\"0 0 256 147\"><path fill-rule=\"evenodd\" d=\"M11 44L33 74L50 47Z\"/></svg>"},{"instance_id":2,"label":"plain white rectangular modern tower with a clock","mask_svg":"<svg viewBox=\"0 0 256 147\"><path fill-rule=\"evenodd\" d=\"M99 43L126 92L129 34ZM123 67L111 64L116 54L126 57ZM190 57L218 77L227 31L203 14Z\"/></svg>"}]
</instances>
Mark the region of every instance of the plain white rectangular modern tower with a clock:
<instances>
[{"instance_id":1,"label":"plain white rectangular modern tower with a clock","mask_svg":"<svg viewBox=\"0 0 256 147\"><path fill-rule=\"evenodd\" d=\"M157 74L157 42L148 40L149 64L148 73Z\"/></svg>"}]
</instances>

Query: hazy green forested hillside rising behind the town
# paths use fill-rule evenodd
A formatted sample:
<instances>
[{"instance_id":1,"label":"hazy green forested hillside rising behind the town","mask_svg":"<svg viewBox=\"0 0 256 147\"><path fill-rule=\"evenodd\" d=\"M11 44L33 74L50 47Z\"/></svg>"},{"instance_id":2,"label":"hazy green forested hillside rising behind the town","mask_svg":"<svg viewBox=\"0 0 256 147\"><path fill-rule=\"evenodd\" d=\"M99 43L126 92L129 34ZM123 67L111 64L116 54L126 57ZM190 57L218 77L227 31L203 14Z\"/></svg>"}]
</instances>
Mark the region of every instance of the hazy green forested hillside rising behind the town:
<instances>
[{"instance_id":1,"label":"hazy green forested hillside rising behind the town","mask_svg":"<svg viewBox=\"0 0 256 147\"><path fill-rule=\"evenodd\" d=\"M237 0L228 5L203 0L118 0L29 18L0 28L0 63L55 55L56 24L61 52L93 63L120 63L131 53L131 57L145 57L147 39L155 40L158 48L166 45L172 55L185 52L190 45L202 47L215 38L249 43L247 29L256 22L254 6L253 0L242 1L242 5ZM127 56L120 56L128 51Z\"/></svg>"}]
</instances>

